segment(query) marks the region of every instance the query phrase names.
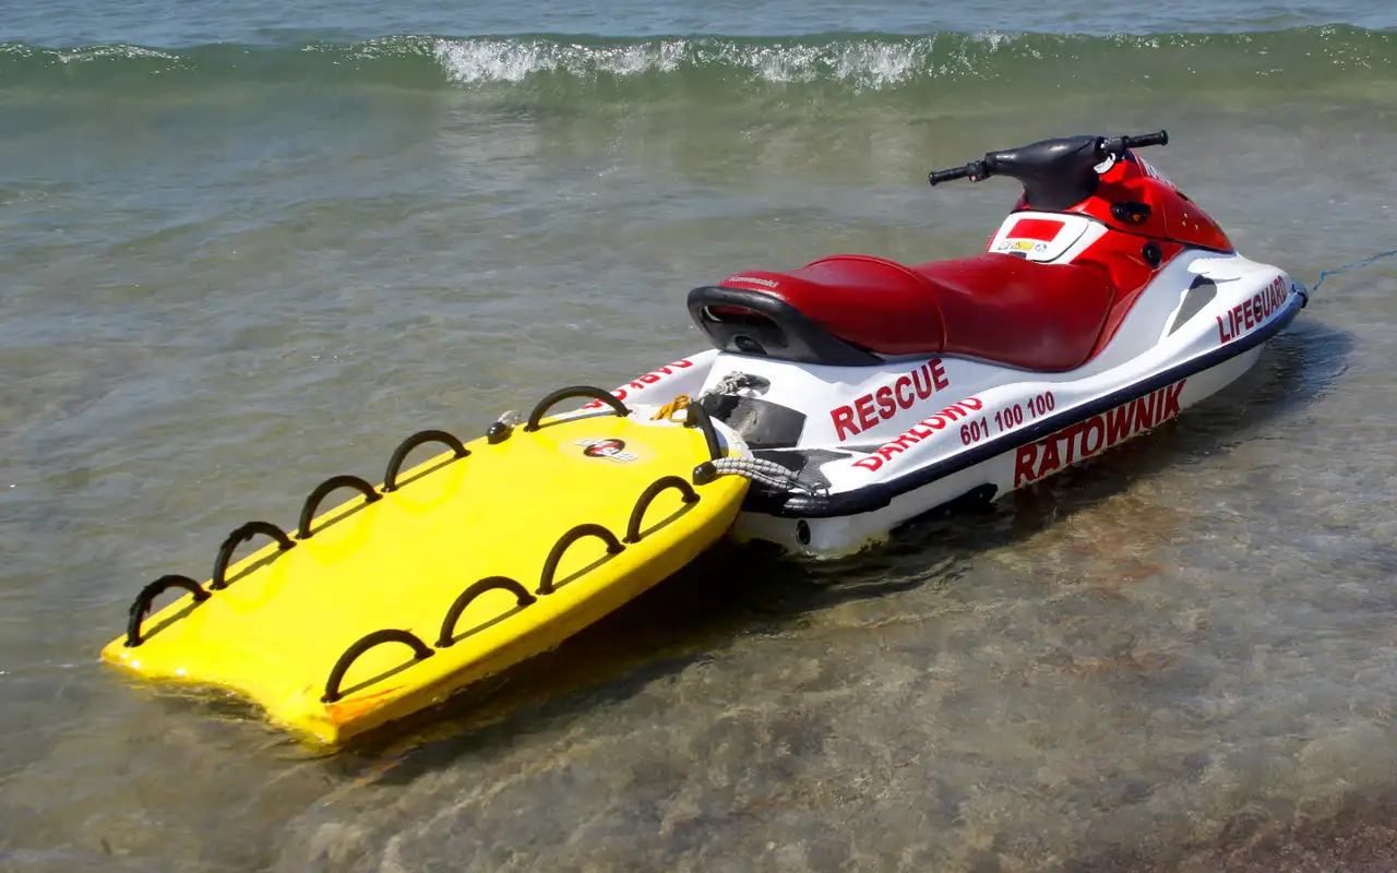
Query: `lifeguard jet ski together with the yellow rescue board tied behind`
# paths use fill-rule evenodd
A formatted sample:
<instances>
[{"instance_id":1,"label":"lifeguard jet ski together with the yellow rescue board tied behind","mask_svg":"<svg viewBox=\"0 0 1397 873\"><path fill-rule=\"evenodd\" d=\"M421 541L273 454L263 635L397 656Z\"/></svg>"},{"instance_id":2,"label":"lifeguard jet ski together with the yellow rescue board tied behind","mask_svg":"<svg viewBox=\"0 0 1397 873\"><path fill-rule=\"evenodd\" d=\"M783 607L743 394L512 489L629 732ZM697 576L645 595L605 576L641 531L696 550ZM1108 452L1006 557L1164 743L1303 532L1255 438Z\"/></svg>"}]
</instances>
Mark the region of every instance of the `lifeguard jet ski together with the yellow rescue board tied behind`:
<instances>
[{"instance_id":1,"label":"lifeguard jet ski together with the yellow rescue board tied behind","mask_svg":"<svg viewBox=\"0 0 1397 873\"><path fill-rule=\"evenodd\" d=\"M334 476L295 529L249 521L207 577L145 585L102 658L337 744L557 645L724 536L838 557L1157 429L1308 299L1136 154L1166 142L1042 140L932 172L1023 184L983 251L694 288L708 348L468 443L407 437L380 485ZM446 451L404 471L427 443ZM271 542L235 560L254 538Z\"/></svg>"}]
</instances>

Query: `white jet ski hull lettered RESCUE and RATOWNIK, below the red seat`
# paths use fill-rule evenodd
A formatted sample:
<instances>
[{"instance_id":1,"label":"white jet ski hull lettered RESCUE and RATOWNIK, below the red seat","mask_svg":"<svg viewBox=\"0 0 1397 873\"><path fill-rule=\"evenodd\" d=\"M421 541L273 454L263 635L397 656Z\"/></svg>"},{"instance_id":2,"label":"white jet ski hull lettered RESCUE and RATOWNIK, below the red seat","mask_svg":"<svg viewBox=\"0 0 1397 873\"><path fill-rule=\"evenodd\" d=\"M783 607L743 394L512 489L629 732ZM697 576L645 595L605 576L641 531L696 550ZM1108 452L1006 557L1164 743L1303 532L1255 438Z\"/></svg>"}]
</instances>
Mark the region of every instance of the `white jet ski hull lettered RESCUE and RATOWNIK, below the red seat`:
<instances>
[{"instance_id":1,"label":"white jet ski hull lettered RESCUE and RATOWNIK, below the red seat","mask_svg":"<svg viewBox=\"0 0 1397 873\"><path fill-rule=\"evenodd\" d=\"M821 366L707 349L613 394L685 395L788 471L784 486L754 482L736 539L840 557L1173 420L1245 374L1305 302L1303 286L1274 267L1194 250L1168 264L1101 352L1073 370L963 355Z\"/></svg>"}]
</instances>

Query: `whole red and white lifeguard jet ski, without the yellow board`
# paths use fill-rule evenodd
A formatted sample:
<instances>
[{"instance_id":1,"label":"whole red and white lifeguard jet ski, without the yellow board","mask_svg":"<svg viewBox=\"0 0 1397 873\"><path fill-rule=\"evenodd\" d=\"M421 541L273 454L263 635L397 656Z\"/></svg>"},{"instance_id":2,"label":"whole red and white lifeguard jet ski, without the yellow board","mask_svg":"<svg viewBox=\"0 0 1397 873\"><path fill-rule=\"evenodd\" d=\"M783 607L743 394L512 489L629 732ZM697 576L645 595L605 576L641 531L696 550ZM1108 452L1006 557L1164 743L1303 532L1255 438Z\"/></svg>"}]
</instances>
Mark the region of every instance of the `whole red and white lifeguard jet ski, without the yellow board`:
<instances>
[{"instance_id":1,"label":"whole red and white lifeguard jet ski, without the yellow board","mask_svg":"<svg viewBox=\"0 0 1397 873\"><path fill-rule=\"evenodd\" d=\"M752 478L738 538L814 557L1095 457L1242 376L1308 299L1134 154L1166 142L1044 140L933 172L1023 183L985 253L696 288L712 348L613 394L707 411L732 457L696 476Z\"/></svg>"}]
</instances>

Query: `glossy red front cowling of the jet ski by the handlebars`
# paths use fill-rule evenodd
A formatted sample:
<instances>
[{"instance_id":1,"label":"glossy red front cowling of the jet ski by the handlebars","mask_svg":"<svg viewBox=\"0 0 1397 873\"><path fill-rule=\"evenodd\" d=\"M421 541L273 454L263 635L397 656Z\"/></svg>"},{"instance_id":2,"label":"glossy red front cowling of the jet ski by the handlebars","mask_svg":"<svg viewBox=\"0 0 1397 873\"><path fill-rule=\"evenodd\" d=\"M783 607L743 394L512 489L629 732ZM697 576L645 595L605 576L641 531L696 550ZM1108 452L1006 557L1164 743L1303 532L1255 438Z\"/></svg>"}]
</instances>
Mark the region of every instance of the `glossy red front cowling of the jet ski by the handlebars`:
<instances>
[{"instance_id":1,"label":"glossy red front cowling of the jet ski by the handlebars","mask_svg":"<svg viewBox=\"0 0 1397 873\"><path fill-rule=\"evenodd\" d=\"M1150 215L1140 223L1118 221L1111 214L1111 205L1118 203L1143 203L1150 207ZM1020 200L1020 208L1021 205ZM1150 175L1146 165L1133 154L1101 175L1094 196L1067 211L1090 215L1113 230L1172 240L1185 246L1232 251L1232 240L1207 212L1168 182Z\"/></svg>"}]
</instances>

